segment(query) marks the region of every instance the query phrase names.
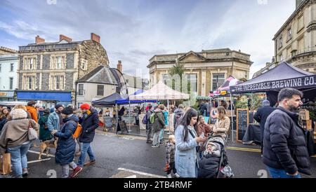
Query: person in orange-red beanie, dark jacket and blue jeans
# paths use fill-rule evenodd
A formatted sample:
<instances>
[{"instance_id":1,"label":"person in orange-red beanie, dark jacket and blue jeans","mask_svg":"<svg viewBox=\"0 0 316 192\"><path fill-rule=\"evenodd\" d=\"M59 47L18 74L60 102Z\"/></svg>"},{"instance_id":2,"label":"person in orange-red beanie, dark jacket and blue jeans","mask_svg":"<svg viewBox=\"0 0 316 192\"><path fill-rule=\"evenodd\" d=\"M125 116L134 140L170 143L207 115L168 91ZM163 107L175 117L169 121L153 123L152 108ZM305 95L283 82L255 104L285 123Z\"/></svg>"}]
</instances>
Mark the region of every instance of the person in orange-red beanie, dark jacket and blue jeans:
<instances>
[{"instance_id":1,"label":"person in orange-red beanie, dark jacket and blue jeans","mask_svg":"<svg viewBox=\"0 0 316 192\"><path fill-rule=\"evenodd\" d=\"M77 165L79 165L79 167L84 167L96 163L96 158L91 148L91 142L93 142L94 136L96 135L96 128L99 126L99 118L98 111L90 107L89 104L82 104L80 109L84 115L79 119L79 123L82 126L79 142L81 142L82 145L81 155ZM85 163L86 153L88 153L90 159L87 163ZM77 175L77 172L74 172L70 177L75 175Z\"/></svg>"}]
</instances>

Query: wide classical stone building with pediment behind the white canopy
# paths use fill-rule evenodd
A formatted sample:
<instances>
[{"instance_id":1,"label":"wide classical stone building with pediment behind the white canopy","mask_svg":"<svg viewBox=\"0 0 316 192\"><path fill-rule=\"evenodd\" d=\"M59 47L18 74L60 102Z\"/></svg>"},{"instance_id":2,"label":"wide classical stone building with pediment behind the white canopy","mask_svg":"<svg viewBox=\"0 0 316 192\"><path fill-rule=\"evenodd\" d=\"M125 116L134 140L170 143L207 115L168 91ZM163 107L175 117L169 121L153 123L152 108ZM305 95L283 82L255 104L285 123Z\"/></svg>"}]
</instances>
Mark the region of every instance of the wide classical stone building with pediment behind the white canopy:
<instances>
[{"instance_id":1,"label":"wide classical stone building with pediment behind the white canopy","mask_svg":"<svg viewBox=\"0 0 316 192\"><path fill-rule=\"evenodd\" d=\"M196 95L209 96L217 90L228 76L249 79L250 55L229 48L202 50L202 52L154 55L147 66L150 69L150 83L169 80L169 72L176 64L183 64L185 78L190 82L190 90Z\"/></svg>"}]
</instances>

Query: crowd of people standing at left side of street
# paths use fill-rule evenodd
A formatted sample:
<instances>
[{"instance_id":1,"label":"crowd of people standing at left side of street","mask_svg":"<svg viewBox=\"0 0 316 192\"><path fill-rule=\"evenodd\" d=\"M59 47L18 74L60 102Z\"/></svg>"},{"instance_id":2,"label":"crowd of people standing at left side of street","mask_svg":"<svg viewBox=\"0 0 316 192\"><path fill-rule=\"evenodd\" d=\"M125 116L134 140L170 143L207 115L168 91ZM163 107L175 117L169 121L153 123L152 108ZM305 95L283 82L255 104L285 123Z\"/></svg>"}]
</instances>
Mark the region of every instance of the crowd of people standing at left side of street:
<instances>
[{"instance_id":1,"label":"crowd of people standing at left side of street","mask_svg":"<svg viewBox=\"0 0 316 192\"><path fill-rule=\"evenodd\" d=\"M38 139L39 142L57 142L55 163L62 168L62 178L76 177L84 166L96 163L91 143L99 118L98 111L89 104L82 104L79 109L72 104L67 107L56 104L51 109L45 109L31 101L26 107L0 107L0 111L0 153L11 153L12 177L28 175L27 152L32 145L39 147ZM38 139L32 137L30 130L37 131ZM79 132L77 137L75 132ZM79 146L77 153L76 146ZM88 162L85 162L86 153ZM79 156L77 163L74 163L74 156Z\"/></svg>"}]
</instances>

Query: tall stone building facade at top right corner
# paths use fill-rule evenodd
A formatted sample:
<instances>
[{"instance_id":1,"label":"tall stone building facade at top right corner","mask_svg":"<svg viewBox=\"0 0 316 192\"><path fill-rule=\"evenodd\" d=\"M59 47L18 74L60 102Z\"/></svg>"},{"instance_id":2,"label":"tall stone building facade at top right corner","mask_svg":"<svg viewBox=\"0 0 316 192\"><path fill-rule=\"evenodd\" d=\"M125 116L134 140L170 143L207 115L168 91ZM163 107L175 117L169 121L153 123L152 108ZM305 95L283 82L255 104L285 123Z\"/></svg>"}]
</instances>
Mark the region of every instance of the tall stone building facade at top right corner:
<instances>
[{"instance_id":1,"label":"tall stone building facade at top right corner","mask_svg":"<svg viewBox=\"0 0 316 192\"><path fill-rule=\"evenodd\" d=\"M275 63L316 73L316 1L296 0L296 10L275 34Z\"/></svg>"}]
</instances>

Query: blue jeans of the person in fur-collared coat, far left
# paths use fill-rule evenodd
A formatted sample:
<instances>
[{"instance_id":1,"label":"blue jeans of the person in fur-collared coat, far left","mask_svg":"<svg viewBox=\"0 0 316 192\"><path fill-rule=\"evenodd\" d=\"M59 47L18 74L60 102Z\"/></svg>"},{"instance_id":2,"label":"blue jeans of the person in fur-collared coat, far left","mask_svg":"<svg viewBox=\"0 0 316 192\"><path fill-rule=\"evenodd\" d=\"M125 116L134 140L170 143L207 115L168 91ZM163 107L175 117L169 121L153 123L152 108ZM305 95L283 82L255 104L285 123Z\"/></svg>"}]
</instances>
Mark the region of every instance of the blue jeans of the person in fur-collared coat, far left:
<instances>
[{"instance_id":1,"label":"blue jeans of the person in fur-collared coat, far left","mask_svg":"<svg viewBox=\"0 0 316 192\"><path fill-rule=\"evenodd\" d=\"M11 153L12 171L15 177L22 177L22 169L27 168L27 151L31 143L20 146L9 147L8 153Z\"/></svg>"}]
</instances>

